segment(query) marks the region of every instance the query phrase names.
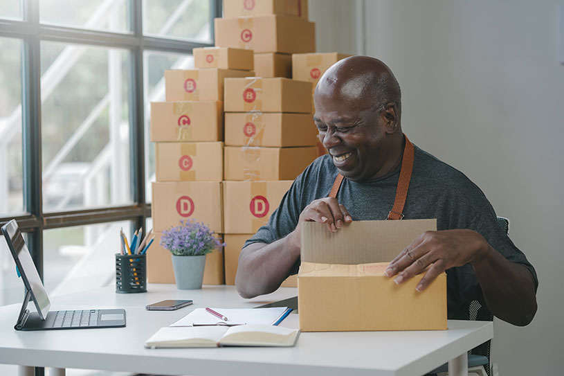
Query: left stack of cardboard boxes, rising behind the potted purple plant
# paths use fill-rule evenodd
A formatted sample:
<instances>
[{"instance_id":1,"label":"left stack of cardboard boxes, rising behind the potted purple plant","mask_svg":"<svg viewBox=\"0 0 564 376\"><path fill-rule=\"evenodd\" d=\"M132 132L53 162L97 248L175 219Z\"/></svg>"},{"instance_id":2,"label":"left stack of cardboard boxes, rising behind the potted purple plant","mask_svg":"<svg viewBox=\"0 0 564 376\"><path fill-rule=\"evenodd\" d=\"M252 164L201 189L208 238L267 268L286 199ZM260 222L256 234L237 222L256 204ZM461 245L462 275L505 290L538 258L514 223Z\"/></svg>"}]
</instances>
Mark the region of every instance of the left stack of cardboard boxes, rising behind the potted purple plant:
<instances>
[{"instance_id":1,"label":"left stack of cardboard boxes, rising behind the potted purple plant","mask_svg":"<svg viewBox=\"0 0 564 376\"><path fill-rule=\"evenodd\" d=\"M151 104L156 147L152 217L158 244L163 230L194 218L223 233L224 78L254 75L253 53L233 48L195 48L196 69L165 71L166 102ZM174 283L170 253L148 253L149 283ZM208 254L203 283L224 283L222 251Z\"/></svg>"}]
</instances>

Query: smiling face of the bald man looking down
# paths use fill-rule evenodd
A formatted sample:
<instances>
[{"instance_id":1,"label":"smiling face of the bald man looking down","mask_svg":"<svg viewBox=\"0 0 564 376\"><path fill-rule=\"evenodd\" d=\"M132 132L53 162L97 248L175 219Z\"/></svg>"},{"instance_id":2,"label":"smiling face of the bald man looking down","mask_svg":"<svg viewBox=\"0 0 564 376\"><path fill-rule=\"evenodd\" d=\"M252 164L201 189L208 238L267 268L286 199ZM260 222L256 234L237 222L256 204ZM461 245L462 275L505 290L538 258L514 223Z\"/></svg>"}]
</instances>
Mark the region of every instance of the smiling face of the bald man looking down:
<instances>
[{"instance_id":1,"label":"smiling face of the bald man looking down","mask_svg":"<svg viewBox=\"0 0 564 376\"><path fill-rule=\"evenodd\" d=\"M331 69L334 74L328 70L316 87L313 120L334 165L352 181L392 172L401 161L403 136L397 105L379 103L385 96L374 93L379 72L355 71L346 62Z\"/></svg>"}]
</instances>

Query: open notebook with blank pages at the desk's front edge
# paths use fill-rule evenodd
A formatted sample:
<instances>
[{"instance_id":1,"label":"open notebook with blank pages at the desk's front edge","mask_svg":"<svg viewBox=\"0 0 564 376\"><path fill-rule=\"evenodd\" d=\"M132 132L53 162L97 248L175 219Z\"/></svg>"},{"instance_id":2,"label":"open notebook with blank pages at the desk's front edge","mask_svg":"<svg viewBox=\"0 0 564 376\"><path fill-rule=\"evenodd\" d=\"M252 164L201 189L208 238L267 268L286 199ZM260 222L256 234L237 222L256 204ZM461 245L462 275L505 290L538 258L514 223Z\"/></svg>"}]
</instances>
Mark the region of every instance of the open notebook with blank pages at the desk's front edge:
<instances>
[{"instance_id":1,"label":"open notebook with blank pages at the desk's front edge","mask_svg":"<svg viewBox=\"0 0 564 376\"><path fill-rule=\"evenodd\" d=\"M220 346L294 346L299 329L248 324L237 326L167 326L145 341L146 348L207 348Z\"/></svg>"}]
</instances>

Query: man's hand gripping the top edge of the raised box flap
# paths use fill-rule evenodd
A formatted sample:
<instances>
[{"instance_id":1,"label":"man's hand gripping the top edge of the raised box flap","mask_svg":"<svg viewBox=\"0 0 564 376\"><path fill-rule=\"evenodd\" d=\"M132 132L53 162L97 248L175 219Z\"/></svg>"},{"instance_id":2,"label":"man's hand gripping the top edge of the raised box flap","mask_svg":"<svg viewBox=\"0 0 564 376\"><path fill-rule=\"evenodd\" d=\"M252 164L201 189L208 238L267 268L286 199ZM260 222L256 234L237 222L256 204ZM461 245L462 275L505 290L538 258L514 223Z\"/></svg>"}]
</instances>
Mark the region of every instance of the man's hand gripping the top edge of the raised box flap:
<instances>
[{"instance_id":1,"label":"man's hand gripping the top edge of the raised box flap","mask_svg":"<svg viewBox=\"0 0 564 376\"><path fill-rule=\"evenodd\" d=\"M345 206L338 203L334 197L316 199L304 208L298 220L298 226L290 234L292 243L298 249L301 248L300 226L302 222L319 222L327 224L329 231L335 232L343 227L343 224L352 222L352 217Z\"/></svg>"}]
</instances>

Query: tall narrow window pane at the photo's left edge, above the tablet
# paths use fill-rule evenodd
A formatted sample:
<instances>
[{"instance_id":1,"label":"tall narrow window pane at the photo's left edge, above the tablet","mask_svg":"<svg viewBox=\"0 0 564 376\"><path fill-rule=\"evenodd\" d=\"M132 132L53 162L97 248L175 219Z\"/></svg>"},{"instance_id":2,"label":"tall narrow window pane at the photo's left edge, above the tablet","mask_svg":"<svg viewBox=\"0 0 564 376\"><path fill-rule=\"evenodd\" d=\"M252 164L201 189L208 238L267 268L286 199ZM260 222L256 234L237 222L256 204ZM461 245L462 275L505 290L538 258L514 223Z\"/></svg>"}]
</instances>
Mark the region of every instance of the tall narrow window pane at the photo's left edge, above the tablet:
<instances>
[{"instance_id":1,"label":"tall narrow window pane at the photo's left edge, above the tablet","mask_svg":"<svg viewBox=\"0 0 564 376\"><path fill-rule=\"evenodd\" d=\"M0 217L24 212L21 40L0 37Z\"/></svg>"}]
</instances>

